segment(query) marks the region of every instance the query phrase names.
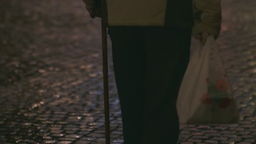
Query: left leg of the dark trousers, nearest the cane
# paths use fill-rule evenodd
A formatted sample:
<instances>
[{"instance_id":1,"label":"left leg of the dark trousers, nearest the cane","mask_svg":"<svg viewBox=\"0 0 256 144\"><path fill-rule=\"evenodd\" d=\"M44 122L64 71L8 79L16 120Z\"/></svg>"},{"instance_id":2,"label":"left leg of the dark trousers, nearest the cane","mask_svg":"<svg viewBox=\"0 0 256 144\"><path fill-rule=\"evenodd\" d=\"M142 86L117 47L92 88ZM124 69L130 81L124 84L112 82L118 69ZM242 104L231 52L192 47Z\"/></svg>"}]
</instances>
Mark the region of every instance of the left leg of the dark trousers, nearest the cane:
<instances>
[{"instance_id":1,"label":"left leg of the dark trousers, nearest the cane","mask_svg":"<svg viewBox=\"0 0 256 144\"><path fill-rule=\"evenodd\" d=\"M143 28L110 27L125 144L141 144L146 53Z\"/></svg>"}]
</instances>

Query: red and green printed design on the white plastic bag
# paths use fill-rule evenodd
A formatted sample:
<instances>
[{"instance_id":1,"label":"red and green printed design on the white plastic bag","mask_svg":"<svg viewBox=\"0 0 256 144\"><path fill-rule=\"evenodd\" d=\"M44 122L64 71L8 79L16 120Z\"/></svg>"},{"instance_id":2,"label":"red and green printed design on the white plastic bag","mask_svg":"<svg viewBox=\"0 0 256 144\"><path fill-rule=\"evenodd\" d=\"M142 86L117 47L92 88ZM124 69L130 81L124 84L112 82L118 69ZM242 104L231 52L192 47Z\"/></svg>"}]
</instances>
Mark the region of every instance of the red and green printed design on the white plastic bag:
<instances>
[{"instance_id":1,"label":"red and green printed design on the white plastic bag","mask_svg":"<svg viewBox=\"0 0 256 144\"><path fill-rule=\"evenodd\" d=\"M226 77L226 74L223 75ZM229 85L225 78L218 79L214 82L206 79L208 85L207 93L201 97L201 103L205 105L212 105L213 109L218 106L219 109L225 109L231 104L232 93L229 91Z\"/></svg>"}]
</instances>

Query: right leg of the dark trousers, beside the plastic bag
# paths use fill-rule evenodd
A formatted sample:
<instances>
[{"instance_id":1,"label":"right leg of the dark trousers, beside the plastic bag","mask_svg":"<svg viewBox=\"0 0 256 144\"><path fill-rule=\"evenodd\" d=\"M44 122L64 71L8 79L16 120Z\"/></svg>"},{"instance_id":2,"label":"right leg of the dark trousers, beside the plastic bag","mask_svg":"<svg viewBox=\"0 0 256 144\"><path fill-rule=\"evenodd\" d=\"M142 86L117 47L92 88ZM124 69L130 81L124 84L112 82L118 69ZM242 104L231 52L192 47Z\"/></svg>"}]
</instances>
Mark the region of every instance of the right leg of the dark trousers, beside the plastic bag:
<instances>
[{"instance_id":1,"label":"right leg of the dark trousers, beside the plastic bag","mask_svg":"<svg viewBox=\"0 0 256 144\"><path fill-rule=\"evenodd\" d=\"M176 100L187 69L190 29L148 27L146 105L143 144L176 143Z\"/></svg>"}]
</instances>

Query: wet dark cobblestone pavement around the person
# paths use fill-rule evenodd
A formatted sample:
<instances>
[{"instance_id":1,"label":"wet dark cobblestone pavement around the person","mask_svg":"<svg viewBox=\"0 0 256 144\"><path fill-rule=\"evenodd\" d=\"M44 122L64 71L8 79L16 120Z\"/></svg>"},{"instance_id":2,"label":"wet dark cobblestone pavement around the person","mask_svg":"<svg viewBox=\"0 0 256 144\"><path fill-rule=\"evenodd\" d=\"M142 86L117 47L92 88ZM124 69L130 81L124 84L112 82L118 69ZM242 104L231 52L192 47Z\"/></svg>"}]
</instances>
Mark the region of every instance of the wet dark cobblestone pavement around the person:
<instances>
[{"instance_id":1,"label":"wet dark cobblestone pavement around the person","mask_svg":"<svg viewBox=\"0 0 256 144\"><path fill-rule=\"evenodd\" d=\"M2 2L0 143L104 143L100 19L91 20L82 1ZM255 143L255 7L253 0L223 1L218 43L239 124L181 125L179 143ZM111 138L118 144L121 112L109 62Z\"/></svg>"}]
</instances>

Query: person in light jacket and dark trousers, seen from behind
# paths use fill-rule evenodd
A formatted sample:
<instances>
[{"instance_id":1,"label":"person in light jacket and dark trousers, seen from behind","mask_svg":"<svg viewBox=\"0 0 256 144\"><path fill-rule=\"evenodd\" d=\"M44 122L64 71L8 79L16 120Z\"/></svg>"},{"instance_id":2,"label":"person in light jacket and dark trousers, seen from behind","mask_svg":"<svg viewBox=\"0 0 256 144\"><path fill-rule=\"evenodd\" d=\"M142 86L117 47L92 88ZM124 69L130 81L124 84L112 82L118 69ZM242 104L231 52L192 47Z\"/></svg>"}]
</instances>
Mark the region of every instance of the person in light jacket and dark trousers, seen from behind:
<instances>
[{"instance_id":1,"label":"person in light jacket and dark trousers, seen from behind","mask_svg":"<svg viewBox=\"0 0 256 144\"><path fill-rule=\"evenodd\" d=\"M102 9L83 1L92 18L104 18L112 41L124 143L177 143L191 37L219 37L220 0L104 0Z\"/></svg>"}]
</instances>

